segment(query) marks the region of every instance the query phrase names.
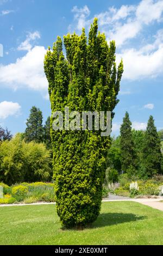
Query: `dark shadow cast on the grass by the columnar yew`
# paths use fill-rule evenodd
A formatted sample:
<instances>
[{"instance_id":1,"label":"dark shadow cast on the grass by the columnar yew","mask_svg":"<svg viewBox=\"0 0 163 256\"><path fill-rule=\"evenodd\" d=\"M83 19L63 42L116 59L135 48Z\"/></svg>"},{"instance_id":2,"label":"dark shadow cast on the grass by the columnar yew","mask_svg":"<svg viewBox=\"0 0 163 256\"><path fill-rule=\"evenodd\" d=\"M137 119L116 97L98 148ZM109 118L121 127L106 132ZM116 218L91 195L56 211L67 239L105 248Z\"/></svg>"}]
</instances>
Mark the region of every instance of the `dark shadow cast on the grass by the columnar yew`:
<instances>
[{"instance_id":1,"label":"dark shadow cast on the grass by the columnar yew","mask_svg":"<svg viewBox=\"0 0 163 256\"><path fill-rule=\"evenodd\" d=\"M89 225L87 228L99 228L110 225L117 225L120 223L141 221L147 218L146 216L140 216L135 214L123 214L123 213L107 213L100 214L95 222Z\"/></svg>"}]
</instances>

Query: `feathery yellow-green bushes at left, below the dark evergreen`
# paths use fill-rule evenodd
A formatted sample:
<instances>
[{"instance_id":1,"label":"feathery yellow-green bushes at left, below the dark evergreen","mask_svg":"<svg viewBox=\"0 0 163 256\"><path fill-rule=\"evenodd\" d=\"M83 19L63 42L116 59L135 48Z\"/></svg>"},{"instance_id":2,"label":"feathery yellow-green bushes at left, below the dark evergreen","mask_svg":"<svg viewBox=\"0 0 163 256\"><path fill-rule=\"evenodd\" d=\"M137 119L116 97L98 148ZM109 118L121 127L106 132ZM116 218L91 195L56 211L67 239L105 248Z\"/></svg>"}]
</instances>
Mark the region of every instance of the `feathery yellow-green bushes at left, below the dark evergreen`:
<instances>
[{"instance_id":1,"label":"feathery yellow-green bushes at left, below the dark evergreen","mask_svg":"<svg viewBox=\"0 0 163 256\"><path fill-rule=\"evenodd\" d=\"M0 180L6 184L51 179L51 152L44 144L26 143L17 134L0 144Z\"/></svg>"}]
</instances>

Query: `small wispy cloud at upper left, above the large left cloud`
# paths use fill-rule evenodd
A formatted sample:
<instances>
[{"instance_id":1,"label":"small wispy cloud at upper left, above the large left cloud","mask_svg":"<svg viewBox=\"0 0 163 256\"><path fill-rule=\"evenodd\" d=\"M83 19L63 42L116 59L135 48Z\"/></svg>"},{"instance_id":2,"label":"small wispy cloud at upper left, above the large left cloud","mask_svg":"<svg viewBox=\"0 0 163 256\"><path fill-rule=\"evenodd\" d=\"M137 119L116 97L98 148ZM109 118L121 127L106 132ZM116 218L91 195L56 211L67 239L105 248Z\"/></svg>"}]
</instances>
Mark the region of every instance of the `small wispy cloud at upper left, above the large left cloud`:
<instances>
[{"instance_id":1,"label":"small wispy cloud at upper left, above the large left cloud","mask_svg":"<svg viewBox=\"0 0 163 256\"><path fill-rule=\"evenodd\" d=\"M32 49L32 41L35 41L36 39L40 39L40 33L38 31L35 31L34 33L28 33L27 38L25 41L23 41L20 46L18 46L18 51L29 51Z\"/></svg>"}]
</instances>

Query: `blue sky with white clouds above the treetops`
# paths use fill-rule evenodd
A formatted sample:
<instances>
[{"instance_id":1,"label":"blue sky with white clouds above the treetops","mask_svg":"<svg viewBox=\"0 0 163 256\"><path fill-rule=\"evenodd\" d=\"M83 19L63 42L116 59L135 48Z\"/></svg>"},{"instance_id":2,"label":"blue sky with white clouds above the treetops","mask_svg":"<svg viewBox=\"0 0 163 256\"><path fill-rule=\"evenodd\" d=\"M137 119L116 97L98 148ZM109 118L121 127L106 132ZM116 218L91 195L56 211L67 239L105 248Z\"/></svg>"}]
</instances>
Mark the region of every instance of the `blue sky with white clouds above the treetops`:
<instances>
[{"instance_id":1,"label":"blue sky with white clouds above the treetops","mask_svg":"<svg viewBox=\"0 0 163 256\"><path fill-rule=\"evenodd\" d=\"M13 134L26 129L32 106L51 113L43 57L57 35L88 31L93 17L106 38L116 40L117 63L123 58L120 102L112 134L124 113L135 129L153 115L163 129L163 1L0 0L0 124Z\"/></svg>"}]
</instances>

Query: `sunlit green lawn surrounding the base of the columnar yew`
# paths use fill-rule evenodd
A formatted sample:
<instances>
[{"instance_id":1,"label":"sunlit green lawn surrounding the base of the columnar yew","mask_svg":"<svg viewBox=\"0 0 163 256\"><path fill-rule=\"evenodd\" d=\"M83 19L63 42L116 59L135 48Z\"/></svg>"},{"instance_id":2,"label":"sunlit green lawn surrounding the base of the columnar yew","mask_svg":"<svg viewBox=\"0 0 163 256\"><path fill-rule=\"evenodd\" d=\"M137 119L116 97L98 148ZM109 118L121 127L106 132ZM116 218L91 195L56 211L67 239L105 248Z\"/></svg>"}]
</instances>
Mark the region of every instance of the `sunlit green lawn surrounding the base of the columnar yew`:
<instances>
[{"instance_id":1,"label":"sunlit green lawn surrounding the base of the columnar yew","mask_svg":"<svg viewBox=\"0 0 163 256\"><path fill-rule=\"evenodd\" d=\"M54 205L0 208L1 245L163 245L163 212L135 202L104 202L90 228L61 229Z\"/></svg>"}]
</instances>

